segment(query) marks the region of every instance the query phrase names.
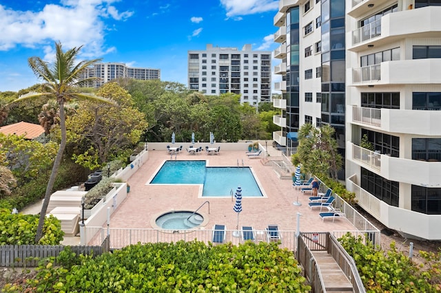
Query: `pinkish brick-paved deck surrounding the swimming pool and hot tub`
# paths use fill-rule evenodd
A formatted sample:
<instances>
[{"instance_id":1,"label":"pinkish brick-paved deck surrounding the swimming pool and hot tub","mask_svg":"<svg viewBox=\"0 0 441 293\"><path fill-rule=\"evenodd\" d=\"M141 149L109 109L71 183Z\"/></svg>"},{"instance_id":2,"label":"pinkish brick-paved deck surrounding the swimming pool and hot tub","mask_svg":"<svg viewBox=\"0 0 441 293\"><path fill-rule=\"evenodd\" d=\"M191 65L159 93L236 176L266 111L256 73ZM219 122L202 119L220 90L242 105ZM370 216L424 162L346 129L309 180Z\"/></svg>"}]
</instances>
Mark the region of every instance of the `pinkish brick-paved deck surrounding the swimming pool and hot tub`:
<instances>
[{"instance_id":1,"label":"pinkish brick-paved deck surrounding the swimming pool and hot tub","mask_svg":"<svg viewBox=\"0 0 441 293\"><path fill-rule=\"evenodd\" d=\"M205 201L209 201L201 212L208 215L205 229L212 229L214 224L223 224L226 228L236 229L237 213L234 212L234 199L231 197L198 197L198 186L185 185L150 185L147 184L164 160L170 155L164 151L149 151L149 158L128 180L130 193L110 218L110 228L155 228L154 219L171 210L196 210ZM174 157L173 157L174 160ZM269 224L278 225L279 230L296 230L297 213L300 213L300 231L326 232L333 230L356 230L347 219L336 221L320 219L320 208L311 210L308 206L309 194L294 191L291 180L281 180L271 166L265 166L260 158L248 158L245 151L220 151L218 155L188 155L181 153L176 160L208 160L209 166L251 166L258 182L267 197L243 197L239 226L253 226L256 230L265 230ZM225 182L228 184L229 182ZM237 186L232 186L236 191ZM301 206L294 206L293 202ZM323 209L322 211L327 211Z\"/></svg>"}]
</instances>

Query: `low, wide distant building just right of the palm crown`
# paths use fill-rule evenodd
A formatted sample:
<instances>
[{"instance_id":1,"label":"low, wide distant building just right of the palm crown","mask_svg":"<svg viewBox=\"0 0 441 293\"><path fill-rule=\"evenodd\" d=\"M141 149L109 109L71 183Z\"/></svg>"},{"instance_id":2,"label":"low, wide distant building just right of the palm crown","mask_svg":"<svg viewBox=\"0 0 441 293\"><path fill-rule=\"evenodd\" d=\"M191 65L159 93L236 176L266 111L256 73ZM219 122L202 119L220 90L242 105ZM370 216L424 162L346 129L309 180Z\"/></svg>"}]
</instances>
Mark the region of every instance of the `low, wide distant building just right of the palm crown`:
<instances>
[{"instance_id":1,"label":"low, wide distant building just right of the palm crown","mask_svg":"<svg viewBox=\"0 0 441 293\"><path fill-rule=\"evenodd\" d=\"M123 63L96 63L85 70L84 77L99 77L87 85L98 88L116 78L161 79L161 69L128 67Z\"/></svg>"}]
</instances>

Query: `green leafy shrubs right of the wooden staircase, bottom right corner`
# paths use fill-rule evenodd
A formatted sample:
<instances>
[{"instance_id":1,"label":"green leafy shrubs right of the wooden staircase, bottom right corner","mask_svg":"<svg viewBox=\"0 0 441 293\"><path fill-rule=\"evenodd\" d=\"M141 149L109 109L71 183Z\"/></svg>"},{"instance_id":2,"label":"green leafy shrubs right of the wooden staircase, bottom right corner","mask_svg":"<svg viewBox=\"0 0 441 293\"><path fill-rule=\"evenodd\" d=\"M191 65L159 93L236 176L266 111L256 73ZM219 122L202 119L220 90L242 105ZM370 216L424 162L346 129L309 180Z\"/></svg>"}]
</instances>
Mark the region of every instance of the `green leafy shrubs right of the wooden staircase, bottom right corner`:
<instances>
[{"instance_id":1,"label":"green leafy shrubs right of the wooden staircase, bottom right corner","mask_svg":"<svg viewBox=\"0 0 441 293\"><path fill-rule=\"evenodd\" d=\"M350 233L338 239L356 262L367 292L440 292L441 252L420 252L421 265L399 252L395 243L387 252L363 244Z\"/></svg>"}]
</instances>

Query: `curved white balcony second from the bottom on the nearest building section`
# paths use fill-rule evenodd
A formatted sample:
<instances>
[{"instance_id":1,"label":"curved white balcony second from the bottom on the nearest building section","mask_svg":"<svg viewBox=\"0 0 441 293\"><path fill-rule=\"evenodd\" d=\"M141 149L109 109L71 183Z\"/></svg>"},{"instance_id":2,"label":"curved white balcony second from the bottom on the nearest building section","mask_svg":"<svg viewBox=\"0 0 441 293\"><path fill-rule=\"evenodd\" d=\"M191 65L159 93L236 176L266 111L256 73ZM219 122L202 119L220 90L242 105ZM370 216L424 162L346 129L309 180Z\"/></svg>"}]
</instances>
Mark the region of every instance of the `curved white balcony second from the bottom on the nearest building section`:
<instances>
[{"instance_id":1,"label":"curved white balcony second from the bottom on the nearest building section","mask_svg":"<svg viewBox=\"0 0 441 293\"><path fill-rule=\"evenodd\" d=\"M374 153L348 142L347 158L391 181L439 187L441 162L426 162ZM349 148L348 148L349 146ZM349 153L350 152L350 153Z\"/></svg>"}]
</instances>

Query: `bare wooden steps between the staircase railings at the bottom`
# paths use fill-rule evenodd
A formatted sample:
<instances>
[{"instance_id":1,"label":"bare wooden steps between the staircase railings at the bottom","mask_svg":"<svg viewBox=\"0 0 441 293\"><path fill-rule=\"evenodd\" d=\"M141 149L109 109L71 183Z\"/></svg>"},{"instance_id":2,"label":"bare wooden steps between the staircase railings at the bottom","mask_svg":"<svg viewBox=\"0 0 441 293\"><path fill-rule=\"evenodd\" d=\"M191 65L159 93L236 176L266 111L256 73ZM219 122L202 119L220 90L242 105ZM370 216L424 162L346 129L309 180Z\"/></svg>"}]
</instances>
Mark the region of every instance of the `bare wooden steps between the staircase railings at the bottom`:
<instances>
[{"instance_id":1,"label":"bare wooden steps between the staircase railings at the bottom","mask_svg":"<svg viewBox=\"0 0 441 293\"><path fill-rule=\"evenodd\" d=\"M331 254L327 251L314 251L312 254L322 274L326 292L353 292L351 282Z\"/></svg>"}]
</instances>

